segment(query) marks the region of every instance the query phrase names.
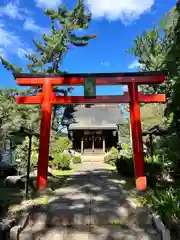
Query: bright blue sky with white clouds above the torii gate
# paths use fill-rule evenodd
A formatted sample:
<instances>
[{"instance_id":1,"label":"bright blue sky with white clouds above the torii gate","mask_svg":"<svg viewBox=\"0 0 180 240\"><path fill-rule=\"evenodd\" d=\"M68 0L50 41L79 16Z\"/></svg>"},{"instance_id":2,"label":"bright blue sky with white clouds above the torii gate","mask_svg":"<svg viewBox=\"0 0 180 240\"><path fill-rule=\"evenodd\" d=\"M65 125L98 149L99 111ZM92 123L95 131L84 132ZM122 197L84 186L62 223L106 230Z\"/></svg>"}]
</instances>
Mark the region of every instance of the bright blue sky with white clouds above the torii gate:
<instances>
[{"instance_id":1,"label":"bright blue sky with white clouds above the torii gate","mask_svg":"<svg viewBox=\"0 0 180 240\"><path fill-rule=\"evenodd\" d=\"M25 67L24 53L33 49L32 39L48 32L46 8L61 3L72 7L76 0L0 0L0 55ZM62 70L69 73L136 71L136 59L125 51L144 30L158 23L175 6L176 0L84 0L93 14L86 33L98 37L83 48L73 48L64 59ZM0 87L15 87L11 73L0 65ZM121 87L98 87L98 94L119 94ZM73 95L82 94L75 88Z\"/></svg>"}]
</instances>

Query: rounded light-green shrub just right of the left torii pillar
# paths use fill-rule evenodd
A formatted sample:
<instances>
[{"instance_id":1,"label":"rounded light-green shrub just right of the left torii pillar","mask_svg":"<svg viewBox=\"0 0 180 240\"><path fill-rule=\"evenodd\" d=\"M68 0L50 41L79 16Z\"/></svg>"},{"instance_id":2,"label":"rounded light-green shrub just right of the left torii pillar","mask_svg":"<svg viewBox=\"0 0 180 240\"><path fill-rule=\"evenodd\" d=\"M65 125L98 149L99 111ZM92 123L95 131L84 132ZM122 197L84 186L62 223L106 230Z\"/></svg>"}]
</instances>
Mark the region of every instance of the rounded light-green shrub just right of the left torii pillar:
<instances>
[{"instance_id":1,"label":"rounded light-green shrub just right of the left torii pillar","mask_svg":"<svg viewBox=\"0 0 180 240\"><path fill-rule=\"evenodd\" d=\"M69 170L70 169L70 163L71 163L71 157L67 153L54 153L54 159L52 161L53 165L56 167L56 169L61 170Z\"/></svg>"}]
</instances>

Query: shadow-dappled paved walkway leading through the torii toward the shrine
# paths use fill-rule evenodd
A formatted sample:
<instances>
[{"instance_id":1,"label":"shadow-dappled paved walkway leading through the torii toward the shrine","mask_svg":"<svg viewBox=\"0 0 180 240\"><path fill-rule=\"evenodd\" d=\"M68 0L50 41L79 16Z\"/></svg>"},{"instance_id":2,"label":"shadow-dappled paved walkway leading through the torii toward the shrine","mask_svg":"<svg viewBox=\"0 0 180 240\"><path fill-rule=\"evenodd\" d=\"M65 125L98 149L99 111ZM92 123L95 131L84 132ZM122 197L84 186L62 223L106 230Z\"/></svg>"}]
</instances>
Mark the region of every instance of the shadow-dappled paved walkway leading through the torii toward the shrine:
<instances>
[{"instance_id":1,"label":"shadow-dappled paved walkway leading through the torii toward the shrine","mask_svg":"<svg viewBox=\"0 0 180 240\"><path fill-rule=\"evenodd\" d=\"M118 174L103 163L83 163L56 197L34 212L20 235L51 240L160 240L147 212L131 207ZM29 238L28 238L29 239Z\"/></svg>"}]
</instances>

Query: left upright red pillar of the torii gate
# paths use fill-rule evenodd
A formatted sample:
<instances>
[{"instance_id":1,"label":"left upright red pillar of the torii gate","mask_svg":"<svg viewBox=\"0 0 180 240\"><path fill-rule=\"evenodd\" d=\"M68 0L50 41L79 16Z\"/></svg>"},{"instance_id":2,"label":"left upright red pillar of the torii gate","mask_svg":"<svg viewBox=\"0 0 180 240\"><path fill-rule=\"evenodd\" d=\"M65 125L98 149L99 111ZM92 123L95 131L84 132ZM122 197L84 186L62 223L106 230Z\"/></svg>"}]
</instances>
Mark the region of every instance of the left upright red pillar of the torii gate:
<instances>
[{"instance_id":1,"label":"left upright red pillar of the torii gate","mask_svg":"<svg viewBox=\"0 0 180 240\"><path fill-rule=\"evenodd\" d=\"M43 103L41 112L41 128L39 143L39 159L37 172L37 190L41 191L47 187L48 161L49 161L49 138L51 129L51 96L52 86L50 79L46 78L43 85Z\"/></svg>"}]
</instances>

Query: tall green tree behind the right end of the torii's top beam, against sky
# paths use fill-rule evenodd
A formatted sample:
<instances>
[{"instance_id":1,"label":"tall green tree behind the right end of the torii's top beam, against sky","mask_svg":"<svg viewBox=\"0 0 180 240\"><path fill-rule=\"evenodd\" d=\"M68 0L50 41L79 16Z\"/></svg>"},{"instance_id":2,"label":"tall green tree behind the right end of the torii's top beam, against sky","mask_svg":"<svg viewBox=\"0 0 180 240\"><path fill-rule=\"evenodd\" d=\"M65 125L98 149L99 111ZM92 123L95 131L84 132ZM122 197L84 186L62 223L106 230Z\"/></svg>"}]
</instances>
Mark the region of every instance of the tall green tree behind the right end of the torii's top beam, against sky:
<instances>
[{"instance_id":1,"label":"tall green tree behind the right end of the torii's top beam, against sky","mask_svg":"<svg viewBox=\"0 0 180 240\"><path fill-rule=\"evenodd\" d=\"M168 76L165 84L144 86L142 90L148 93L167 93L172 96L174 84L173 69L167 66L167 53L171 46L171 38L177 21L177 12L173 8L160 21L160 25L154 25L152 29L139 35L134 45L127 51L133 54L140 63L139 71L166 71Z\"/></svg>"}]
</instances>

